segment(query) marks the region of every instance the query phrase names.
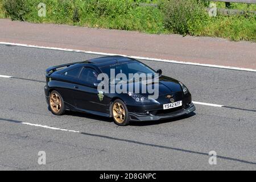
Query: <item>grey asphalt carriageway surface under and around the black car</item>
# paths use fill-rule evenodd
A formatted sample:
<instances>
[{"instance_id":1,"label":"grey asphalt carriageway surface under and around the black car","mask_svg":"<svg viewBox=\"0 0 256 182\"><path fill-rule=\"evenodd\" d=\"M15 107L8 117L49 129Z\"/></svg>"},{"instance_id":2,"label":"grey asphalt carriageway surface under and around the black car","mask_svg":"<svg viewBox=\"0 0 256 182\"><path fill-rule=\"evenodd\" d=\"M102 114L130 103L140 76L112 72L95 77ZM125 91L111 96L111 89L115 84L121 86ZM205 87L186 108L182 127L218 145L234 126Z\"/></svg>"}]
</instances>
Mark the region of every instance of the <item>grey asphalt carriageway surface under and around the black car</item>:
<instances>
[{"instance_id":1,"label":"grey asphalt carriageway surface under and around the black car","mask_svg":"<svg viewBox=\"0 0 256 182\"><path fill-rule=\"evenodd\" d=\"M256 73L143 61L188 86L195 114L118 127L112 119L52 115L44 98L47 67L99 55L0 45L0 169L256 170ZM53 130L35 125L75 130ZM38 152L46 152L46 165ZM210 165L209 151L217 164Z\"/></svg>"}]
</instances>

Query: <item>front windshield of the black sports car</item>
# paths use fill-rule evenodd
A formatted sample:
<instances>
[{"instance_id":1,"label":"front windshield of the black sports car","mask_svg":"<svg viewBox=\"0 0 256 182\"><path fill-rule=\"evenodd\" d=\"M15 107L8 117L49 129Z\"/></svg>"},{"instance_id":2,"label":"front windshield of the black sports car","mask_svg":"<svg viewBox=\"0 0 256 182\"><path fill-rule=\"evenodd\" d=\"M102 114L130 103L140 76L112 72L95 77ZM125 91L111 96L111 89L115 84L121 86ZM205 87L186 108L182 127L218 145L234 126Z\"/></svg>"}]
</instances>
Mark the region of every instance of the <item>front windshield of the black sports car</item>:
<instances>
[{"instance_id":1,"label":"front windshield of the black sports car","mask_svg":"<svg viewBox=\"0 0 256 182\"><path fill-rule=\"evenodd\" d=\"M152 76L154 76L154 74L156 73L153 69L151 69L151 68L147 67L146 65L139 63L137 61L129 61L126 63L117 63L117 64L101 67L101 71L108 75L110 82L112 82L114 79L111 77L111 74L110 74L111 70L112 70L112 72L114 72L115 82L120 81L116 77L118 73L125 74L127 81L130 81L129 74L134 75L135 73L137 73L137 74L141 75L142 73L145 73L146 75L151 74ZM132 78L132 80L134 80L134 78Z\"/></svg>"}]
</instances>

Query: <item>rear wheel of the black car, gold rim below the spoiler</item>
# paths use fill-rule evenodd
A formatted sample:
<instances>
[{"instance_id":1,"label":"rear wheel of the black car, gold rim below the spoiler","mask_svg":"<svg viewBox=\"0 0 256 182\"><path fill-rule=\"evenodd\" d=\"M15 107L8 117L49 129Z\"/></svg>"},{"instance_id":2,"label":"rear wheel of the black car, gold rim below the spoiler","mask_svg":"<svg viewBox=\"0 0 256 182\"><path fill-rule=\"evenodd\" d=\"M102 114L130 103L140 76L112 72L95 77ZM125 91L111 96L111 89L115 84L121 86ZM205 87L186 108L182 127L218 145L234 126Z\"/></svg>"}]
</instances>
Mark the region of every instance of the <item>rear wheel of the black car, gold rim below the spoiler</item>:
<instances>
[{"instance_id":1,"label":"rear wheel of the black car, gold rim below the spoiler","mask_svg":"<svg viewBox=\"0 0 256 182\"><path fill-rule=\"evenodd\" d=\"M65 112L63 98L56 90L53 90L49 94L49 109L51 110L52 114L55 115L63 115Z\"/></svg>"}]
</instances>

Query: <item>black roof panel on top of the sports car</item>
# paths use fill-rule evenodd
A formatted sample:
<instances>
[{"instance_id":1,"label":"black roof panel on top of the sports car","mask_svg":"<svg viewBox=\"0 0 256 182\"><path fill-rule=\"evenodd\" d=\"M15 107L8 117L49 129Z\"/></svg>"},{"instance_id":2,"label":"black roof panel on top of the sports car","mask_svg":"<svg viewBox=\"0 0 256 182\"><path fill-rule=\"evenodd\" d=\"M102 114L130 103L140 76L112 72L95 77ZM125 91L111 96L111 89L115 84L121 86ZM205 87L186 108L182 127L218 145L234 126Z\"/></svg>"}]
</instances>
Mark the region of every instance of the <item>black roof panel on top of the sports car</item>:
<instances>
[{"instance_id":1,"label":"black roof panel on top of the sports car","mask_svg":"<svg viewBox=\"0 0 256 182\"><path fill-rule=\"evenodd\" d=\"M131 59L129 57L123 57L123 56L105 56L105 57L98 57L94 59L90 59L87 61L82 61L82 64L93 64L97 67L104 67L105 65L112 65L127 61L134 61L134 59Z\"/></svg>"}]
</instances>

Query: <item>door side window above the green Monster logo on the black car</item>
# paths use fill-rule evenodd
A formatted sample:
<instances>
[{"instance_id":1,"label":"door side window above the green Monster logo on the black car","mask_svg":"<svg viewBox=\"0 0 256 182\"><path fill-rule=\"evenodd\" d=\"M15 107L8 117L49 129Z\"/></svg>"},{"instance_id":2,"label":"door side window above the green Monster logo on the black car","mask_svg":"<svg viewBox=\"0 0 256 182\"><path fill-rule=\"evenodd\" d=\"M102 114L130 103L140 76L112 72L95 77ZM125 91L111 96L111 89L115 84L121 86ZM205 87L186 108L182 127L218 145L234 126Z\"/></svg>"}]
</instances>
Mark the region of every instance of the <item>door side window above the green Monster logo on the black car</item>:
<instances>
[{"instance_id":1,"label":"door side window above the green Monster logo on the black car","mask_svg":"<svg viewBox=\"0 0 256 182\"><path fill-rule=\"evenodd\" d=\"M90 85L93 85L93 83L97 81L97 77L98 73L95 69L85 67L82 69L80 80Z\"/></svg>"}]
</instances>

